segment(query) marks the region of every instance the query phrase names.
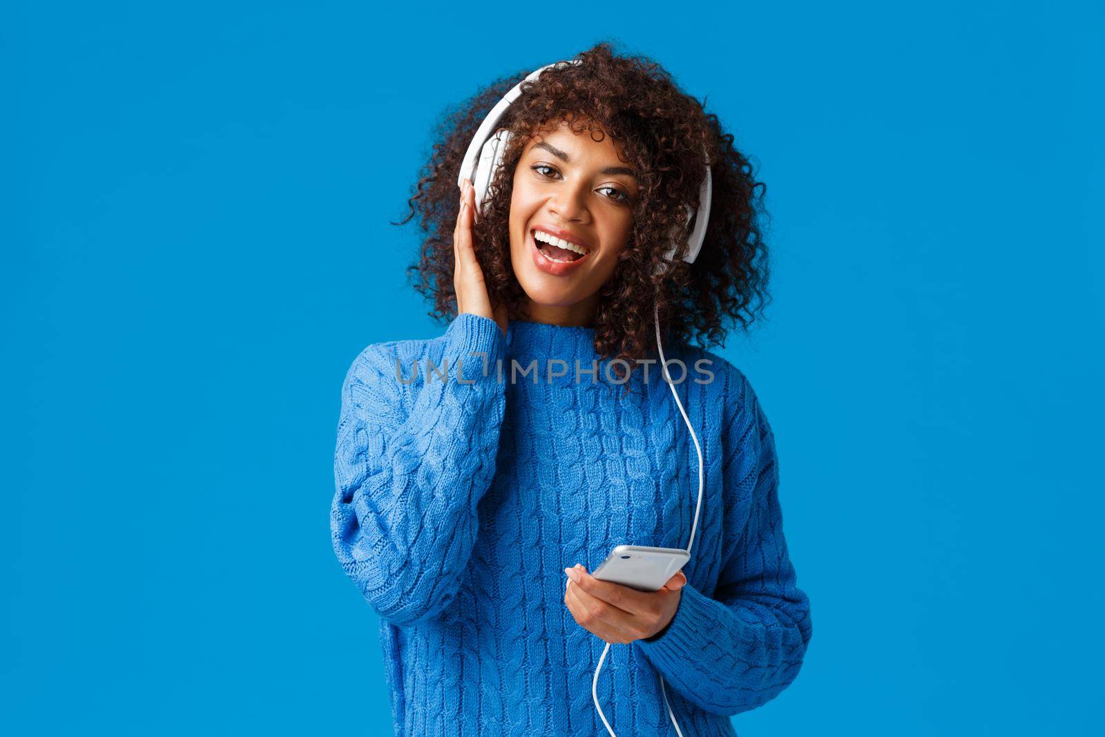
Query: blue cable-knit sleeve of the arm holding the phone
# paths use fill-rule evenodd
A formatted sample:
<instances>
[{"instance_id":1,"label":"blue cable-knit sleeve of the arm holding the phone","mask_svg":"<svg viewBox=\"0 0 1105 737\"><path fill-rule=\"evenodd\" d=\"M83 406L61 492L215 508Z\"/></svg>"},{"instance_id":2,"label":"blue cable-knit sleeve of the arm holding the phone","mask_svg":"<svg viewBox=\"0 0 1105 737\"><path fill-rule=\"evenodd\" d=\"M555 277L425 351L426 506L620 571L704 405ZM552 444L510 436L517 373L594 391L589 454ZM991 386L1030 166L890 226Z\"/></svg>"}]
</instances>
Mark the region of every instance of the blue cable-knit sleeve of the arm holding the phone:
<instances>
[{"instance_id":1,"label":"blue cable-knit sleeve of the arm holding the phone","mask_svg":"<svg viewBox=\"0 0 1105 737\"><path fill-rule=\"evenodd\" d=\"M723 545L713 593L684 585L675 617L657 635L635 641L681 696L733 715L778 696L798 676L812 635L809 599L796 582L779 506L775 436L748 380L729 415L724 504L732 529L747 510L744 531Z\"/></svg>"}]
</instances>

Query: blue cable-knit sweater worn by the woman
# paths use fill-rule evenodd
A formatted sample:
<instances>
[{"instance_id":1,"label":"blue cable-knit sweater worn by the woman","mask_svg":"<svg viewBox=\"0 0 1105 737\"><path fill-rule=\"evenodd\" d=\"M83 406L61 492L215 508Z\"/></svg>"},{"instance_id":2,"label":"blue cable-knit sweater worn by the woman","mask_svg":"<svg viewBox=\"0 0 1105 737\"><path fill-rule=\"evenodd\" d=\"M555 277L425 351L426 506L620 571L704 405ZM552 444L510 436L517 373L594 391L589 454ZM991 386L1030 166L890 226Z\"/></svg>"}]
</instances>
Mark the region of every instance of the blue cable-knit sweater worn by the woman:
<instances>
[{"instance_id":1,"label":"blue cable-knit sweater worn by the woman","mask_svg":"<svg viewBox=\"0 0 1105 737\"><path fill-rule=\"evenodd\" d=\"M565 606L564 569L620 544L685 548L698 460L657 367L618 385L593 339L462 314L352 362L330 526L380 618L396 735L606 735L591 699L606 643ZM664 352L686 368L670 372L702 443L702 512L674 619L611 645L599 701L619 737L675 735L659 673L684 735L735 735L728 715L798 675L810 606L751 386L709 351Z\"/></svg>"}]
</instances>

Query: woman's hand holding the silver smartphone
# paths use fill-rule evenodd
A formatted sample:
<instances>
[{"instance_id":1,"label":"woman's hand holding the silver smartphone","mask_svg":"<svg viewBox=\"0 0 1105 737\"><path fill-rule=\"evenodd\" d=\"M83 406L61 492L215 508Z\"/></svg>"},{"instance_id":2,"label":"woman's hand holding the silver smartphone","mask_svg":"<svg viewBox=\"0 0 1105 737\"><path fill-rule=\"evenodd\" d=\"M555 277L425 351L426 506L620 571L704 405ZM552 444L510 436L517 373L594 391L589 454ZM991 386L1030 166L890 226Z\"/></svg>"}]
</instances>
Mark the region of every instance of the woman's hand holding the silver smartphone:
<instances>
[{"instance_id":1,"label":"woman's hand holding the silver smartphone","mask_svg":"<svg viewBox=\"0 0 1105 737\"><path fill-rule=\"evenodd\" d=\"M600 581L580 565L565 568L570 579L564 603L576 622L588 632L614 644L651 638L675 617L680 589L687 582L680 571L659 591L636 589L611 581Z\"/></svg>"}]
</instances>

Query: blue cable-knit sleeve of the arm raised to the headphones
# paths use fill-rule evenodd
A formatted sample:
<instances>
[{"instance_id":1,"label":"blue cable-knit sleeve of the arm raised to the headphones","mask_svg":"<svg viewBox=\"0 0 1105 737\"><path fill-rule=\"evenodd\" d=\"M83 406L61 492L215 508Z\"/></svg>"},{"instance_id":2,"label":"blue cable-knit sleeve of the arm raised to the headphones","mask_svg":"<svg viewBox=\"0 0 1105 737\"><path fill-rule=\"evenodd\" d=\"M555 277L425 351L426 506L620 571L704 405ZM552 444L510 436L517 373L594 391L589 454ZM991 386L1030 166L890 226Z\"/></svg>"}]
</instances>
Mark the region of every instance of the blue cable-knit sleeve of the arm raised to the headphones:
<instances>
[{"instance_id":1,"label":"blue cable-knit sleeve of the arm raised to the headphones","mask_svg":"<svg viewBox=\"0 0 1105 737\"><path fill-rule=\"evenodd\" d=\"M436 369L418 357L421 382L412 357L397 370L397 345L366 348L343 385L330 536L376 613L411 624L449 607L472 555L505 409L505 337L487 317L457 315ZM404 402L404 389L417 396Z\"/></svg>"}]
</instances>

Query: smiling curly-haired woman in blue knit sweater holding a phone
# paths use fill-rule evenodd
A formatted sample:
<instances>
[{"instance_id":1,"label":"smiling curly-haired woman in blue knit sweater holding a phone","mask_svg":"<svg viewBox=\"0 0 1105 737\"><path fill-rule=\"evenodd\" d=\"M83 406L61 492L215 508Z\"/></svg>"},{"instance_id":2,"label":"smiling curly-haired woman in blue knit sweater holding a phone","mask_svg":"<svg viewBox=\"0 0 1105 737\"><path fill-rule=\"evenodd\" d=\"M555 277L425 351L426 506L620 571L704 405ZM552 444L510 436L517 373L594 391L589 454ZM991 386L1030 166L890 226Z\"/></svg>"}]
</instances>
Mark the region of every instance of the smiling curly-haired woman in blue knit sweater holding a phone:
<instances>
[{"instance_id":1,"label":"smiling curly-haired woman in blue knit sweater holding a phone","mask_svg":"<svg viewBox=\"0 0 1105 737\"><path fill-rule=\"evenodd\" d=\"M486 192L457 198L520 78L446 122L411 198L411 269L452 322L350 367L334 549L380 617L397 735L734 735L812 633L771 428L747 378L692 345L762 309L762 185L661 67L601 43L522 85ZM701 253L669 261L707 161ZM660 590L590 573L617 545L688 536Z\"/></svg>"}]
</instances>

